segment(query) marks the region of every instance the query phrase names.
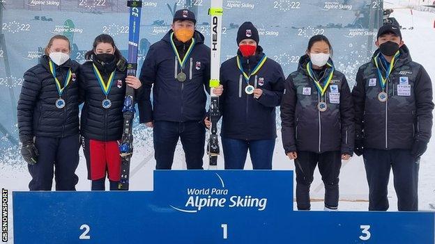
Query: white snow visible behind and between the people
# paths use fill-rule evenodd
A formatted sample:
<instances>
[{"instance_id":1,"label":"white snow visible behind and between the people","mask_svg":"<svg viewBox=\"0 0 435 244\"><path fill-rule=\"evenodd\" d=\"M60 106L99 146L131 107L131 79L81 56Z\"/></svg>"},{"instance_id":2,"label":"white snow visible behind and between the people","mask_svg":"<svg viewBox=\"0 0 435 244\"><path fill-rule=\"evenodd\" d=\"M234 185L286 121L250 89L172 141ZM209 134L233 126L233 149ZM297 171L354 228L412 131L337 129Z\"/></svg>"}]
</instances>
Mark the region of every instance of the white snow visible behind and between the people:
<instances>
[{"instance_id":1,"label":"white snow visible behind and between the people","mask_svg":"<svg viewBox=\"0 0 435 244\"><path fill-rule=\"evenodd\" d=\"M404 42L411 50L411 56L413 60L421 63L429 75L432 81L435 83L435 62L433 57L435 56L435 13L422 12L404 8L400 5L408 5L408 1L390 0L384 2L385 8L395 8L395 12L392 17L396 17L399 23L406 28L402 30ZM409 29L413 27L413 29ZM137 128L142 133L151 136L151 129L146 129L143 126ZM435 132L435 131L434 131ZM435 134L435 133L434 133ZM176 154L183 155L181 145L178 145ZM431 211L429 209L430 203L435 203L435 140L431 140L427 153L422 156L420 163L420 210ZM206 162L206 156L204 161ZM275 155L274 155L274 168L275 169L288 169L293 170L293 162L282 152L282 143L280 136L278 136ZM223 168L222 157L219 161L220 168ZM0 166L0 179L1 187L8 190L28 190L27 183L30 180L29 173L26 168L12 165ZM13 169L12 167L22 167L21 170ZM153 158L153 151L149 145L136 145L136 151L132 159L132 179L130 182L131 190L152 190L153 189L153 169L155 167L155 160ZM183 162L183 156L176 157L174 162L175 169L184 169L185 164ZM246 168L252 168L250 160L248 159ZM17 172L17 174L11 175L10 172ZM77 190L89 190L90 182L86 179L86 165L84 163L84 156L81 155L81 163L77 169L79 175L79 184ZM390 177L389 186L389 199L390 199L390 211L397 210L397 198L392 186L392 176ZM108 188L108 186L107 186ZM320 180L319 172L316 171L316 177L312 184L312 198L319 201L312 203L312 209L322 210L323 202L323 184ZM342 166L342 172L340 176L340 210L352 210L352 211L365 211L368 207L367 202L367 182L365 180L365 170L363 165L363 158L354 156L349 162L344 162ZM12 197L10 197L10 201ZM11 206L11 205L10 205ZM12 211L10 211L11 213ZM12 223L10 223L12 225ZM10 237L12 233L10 232Z\"/></svg>"}]
</instances>

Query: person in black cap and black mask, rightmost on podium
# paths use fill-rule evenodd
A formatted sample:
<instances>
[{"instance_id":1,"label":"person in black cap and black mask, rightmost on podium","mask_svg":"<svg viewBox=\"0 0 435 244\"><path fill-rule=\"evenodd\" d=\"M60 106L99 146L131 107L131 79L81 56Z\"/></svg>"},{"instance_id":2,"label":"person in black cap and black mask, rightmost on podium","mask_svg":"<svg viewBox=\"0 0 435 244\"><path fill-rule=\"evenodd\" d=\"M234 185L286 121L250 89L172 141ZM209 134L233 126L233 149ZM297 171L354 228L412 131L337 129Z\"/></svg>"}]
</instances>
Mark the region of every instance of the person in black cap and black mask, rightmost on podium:
<instances>
[{"instance_id":1,"label":"person in black cap and black mask, rightmost on podium","mask_svg":"<svg viewBox=\"0 0 435 244\"><path fill-rule=\"evenodd\" d=\"M378 50L353 88L356 154L363 154L369 210L386 211L390 170L399 211L418 210L418 170L432 133L432 82L413 62L399 26L379 29Z\"/></svg>"}]
</instances>

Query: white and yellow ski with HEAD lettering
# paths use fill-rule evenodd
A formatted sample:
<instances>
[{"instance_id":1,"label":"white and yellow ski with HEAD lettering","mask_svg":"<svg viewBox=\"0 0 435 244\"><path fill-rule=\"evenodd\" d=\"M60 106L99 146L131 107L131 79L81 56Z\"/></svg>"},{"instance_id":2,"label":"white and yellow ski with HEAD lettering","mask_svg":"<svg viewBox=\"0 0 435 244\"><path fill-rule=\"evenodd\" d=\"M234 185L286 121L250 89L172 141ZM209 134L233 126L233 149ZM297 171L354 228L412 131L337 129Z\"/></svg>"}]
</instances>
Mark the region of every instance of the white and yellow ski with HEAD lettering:
<instances>
[{"instance_id":1,"label":"white and yellow ski with HEAD lettering","mask_svg":"<svg viewBox=\"0 0 435 244\"><path fill-rule=\"evenodd\" d=\"M208 10L211 15L211 76L210 76L210 122L207 154L209 165L217 166L217 156L220 153L219 136L217 135L217 122L220 119L219 97L213 94L213 88L220 83L220 43L222 36L222 0L211 0L211 8Z\"/></svg>"}]
</instances>

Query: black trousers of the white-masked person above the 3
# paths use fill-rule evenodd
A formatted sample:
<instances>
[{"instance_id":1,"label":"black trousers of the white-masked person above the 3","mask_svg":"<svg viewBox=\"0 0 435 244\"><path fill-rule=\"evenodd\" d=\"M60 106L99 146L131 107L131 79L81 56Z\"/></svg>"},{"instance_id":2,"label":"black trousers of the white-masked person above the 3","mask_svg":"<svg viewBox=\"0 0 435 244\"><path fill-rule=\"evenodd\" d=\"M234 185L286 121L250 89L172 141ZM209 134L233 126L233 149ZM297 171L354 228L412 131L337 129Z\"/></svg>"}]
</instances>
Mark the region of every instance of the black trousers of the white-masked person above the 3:
<instances>
[{"instance_id":1,"label":"black trousers of the white-masked person above the 3","mask_svg":"<svg viewBox=\"0 0 435 244\"><path fill-rule=\"evenodd\" d=\"M296 168L296 202L298 210L310 210L310 186L314 177L314 169L319 165L319 172L325 184L325 206L337 209L339 197L339 170L342 168L342 154L339 151L298 152L295 160Z\"/></svg>"}]
</instances>

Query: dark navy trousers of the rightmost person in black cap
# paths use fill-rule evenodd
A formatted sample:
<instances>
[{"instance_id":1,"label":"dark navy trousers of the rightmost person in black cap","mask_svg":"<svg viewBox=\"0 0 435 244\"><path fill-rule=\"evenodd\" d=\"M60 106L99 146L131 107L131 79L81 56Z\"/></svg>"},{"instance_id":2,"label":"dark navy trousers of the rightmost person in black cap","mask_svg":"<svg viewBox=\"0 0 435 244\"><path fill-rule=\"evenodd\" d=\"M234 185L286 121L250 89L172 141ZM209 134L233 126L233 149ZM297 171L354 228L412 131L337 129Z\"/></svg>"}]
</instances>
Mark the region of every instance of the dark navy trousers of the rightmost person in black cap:
<instances>
[{"instance_id":1,"label":"dark navy trousers of the rightmost person in black cap","mask_svg":"<svg viewBox=\"0 0 435 244\"><path fill-rule=\"evenodd\" d=\"M420 159L410 150L365 149L364 165L369 184L369 210L386 211L390 170L394 176L399 211L418 211L418 170Z\"/></svg>"}]
</instances>

